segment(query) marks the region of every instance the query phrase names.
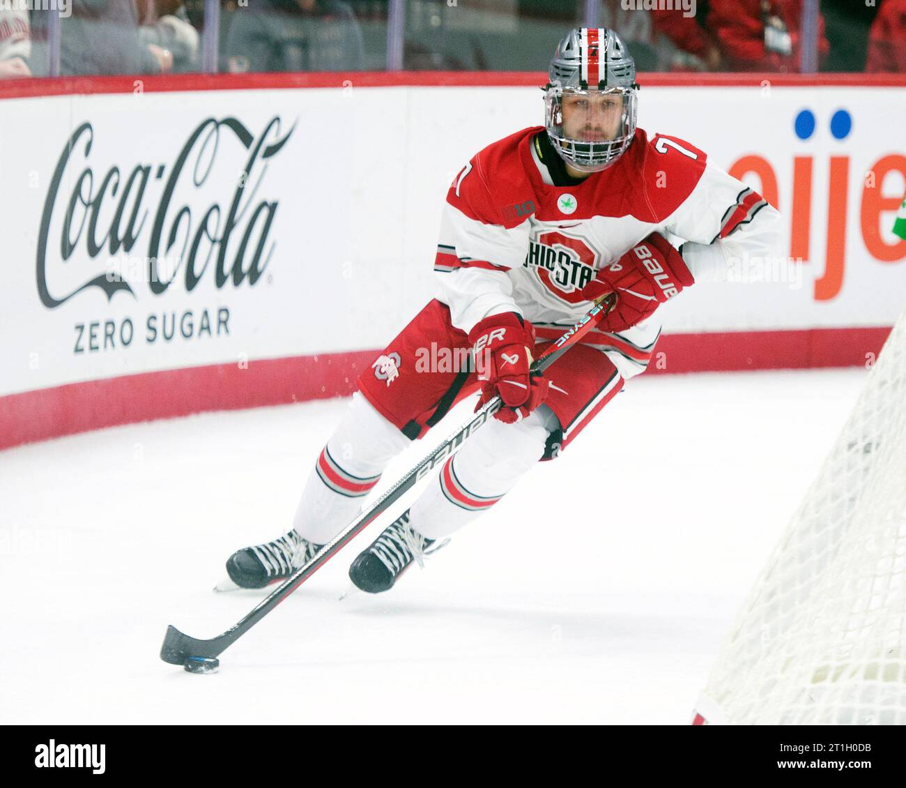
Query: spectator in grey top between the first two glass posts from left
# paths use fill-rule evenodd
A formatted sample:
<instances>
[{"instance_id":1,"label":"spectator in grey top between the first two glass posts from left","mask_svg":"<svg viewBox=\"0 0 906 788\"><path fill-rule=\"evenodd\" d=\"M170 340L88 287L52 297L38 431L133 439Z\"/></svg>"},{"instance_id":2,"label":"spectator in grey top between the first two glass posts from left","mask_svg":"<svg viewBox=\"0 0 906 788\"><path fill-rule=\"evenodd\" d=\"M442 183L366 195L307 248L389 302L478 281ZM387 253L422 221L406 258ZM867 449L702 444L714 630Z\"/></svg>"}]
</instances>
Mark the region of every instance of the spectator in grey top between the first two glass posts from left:
<instances>
[{"instance_id":1,"label":"spectator in grey top between the first two glass posts from left","mask_svg":"<svg viewBox=\"0 0 906 788\"><path fill-rule=\"evenodd\" d=\"M72 15L60 21L60 72L139 74L169 72L173 55L139 39L136 0L71 0ZM51 11L34 11L34 39L47 41ZM37 59L33 58L37 63Z\"/></svg>"}]
</instances>

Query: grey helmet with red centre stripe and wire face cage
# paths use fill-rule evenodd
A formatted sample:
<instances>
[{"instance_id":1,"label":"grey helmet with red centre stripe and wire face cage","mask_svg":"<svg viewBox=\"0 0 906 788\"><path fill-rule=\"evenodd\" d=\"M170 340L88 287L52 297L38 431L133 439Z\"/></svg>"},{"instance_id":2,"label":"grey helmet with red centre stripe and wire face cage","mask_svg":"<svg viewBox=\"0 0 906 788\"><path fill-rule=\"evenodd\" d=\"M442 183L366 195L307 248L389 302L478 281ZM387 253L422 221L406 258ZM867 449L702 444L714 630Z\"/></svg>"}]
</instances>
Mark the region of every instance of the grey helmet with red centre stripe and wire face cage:
<instances>
[{"instance_id":1,"label":"grey helmet with red centre stripe and wire face cage","mask_svg":"<svg viewBox=\"0 0 906 788\"><path fill-rule=\"evenodd\" d=\"M635 134L639 86L635 61L622 38L607 28L571 30L557 44L545 87L545 128L560 156L575 170L598 172L610 167L631 145ZM622 119L613 136L582 140L564 133L564 94L622 96ZM592 99L593 100L593 99Z\"/></svg>"}]
</instances>

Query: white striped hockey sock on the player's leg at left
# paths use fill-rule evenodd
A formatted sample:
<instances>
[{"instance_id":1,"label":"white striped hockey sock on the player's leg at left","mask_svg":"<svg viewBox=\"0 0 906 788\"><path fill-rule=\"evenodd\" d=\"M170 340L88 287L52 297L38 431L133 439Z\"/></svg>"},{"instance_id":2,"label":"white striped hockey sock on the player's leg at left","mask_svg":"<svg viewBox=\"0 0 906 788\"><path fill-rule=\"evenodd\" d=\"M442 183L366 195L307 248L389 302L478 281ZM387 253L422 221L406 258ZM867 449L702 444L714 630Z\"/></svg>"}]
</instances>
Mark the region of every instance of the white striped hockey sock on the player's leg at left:
<instances>
[{"instance_id":1,"label":"white striped hockey sock on the player's leg at left","mask_svg":"<svg viewBox=\"0 0 906 788\"><path fill-rule=\"evenodd\" d=\"M359 513L387 463L409 443L359 392L353 394L305 482L293 520L296 532L314 544L332 540Z\"/></svg>"}]
</instances>

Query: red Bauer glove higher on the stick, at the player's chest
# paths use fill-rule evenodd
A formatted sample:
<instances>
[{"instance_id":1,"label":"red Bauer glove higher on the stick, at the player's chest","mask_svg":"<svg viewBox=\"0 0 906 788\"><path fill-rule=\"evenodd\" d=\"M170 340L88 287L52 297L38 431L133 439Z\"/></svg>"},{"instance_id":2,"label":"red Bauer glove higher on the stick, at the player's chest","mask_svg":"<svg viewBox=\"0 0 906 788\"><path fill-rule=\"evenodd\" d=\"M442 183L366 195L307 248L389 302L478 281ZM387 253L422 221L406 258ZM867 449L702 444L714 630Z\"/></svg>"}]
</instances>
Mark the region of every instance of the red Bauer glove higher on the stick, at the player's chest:
<instances>
[{"instance_id":1,"label":"red Bauer glove higher on the stick, at the player's chest","mask_svg":"<svg viewBox=\"0 0 906 788\"><path fill-rule=\"evenodd\" d=\"M598 271L582 288L582 295L596 301L608 292L616 293L616 306L598 327L623 331L650 317L658 306L693 284L695 279L679 252L667 238L653 232L617 262Z\"/></svg>"}]
</instances>

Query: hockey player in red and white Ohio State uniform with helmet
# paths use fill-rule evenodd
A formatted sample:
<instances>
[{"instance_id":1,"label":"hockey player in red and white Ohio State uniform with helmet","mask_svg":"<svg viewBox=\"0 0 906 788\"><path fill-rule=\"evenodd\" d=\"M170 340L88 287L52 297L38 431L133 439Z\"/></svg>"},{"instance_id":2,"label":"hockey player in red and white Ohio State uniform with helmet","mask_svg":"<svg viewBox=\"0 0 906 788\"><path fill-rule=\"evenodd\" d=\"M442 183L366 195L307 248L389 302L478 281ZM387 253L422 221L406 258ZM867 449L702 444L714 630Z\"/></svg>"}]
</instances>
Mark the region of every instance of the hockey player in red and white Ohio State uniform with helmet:
<instances>
[{"instance_id":1,"label":"hockey player in red and white Ohio State uniform with helmet","mask_svg":"<svg viewBox=\"0 0 906 788\"><path fill-rule=\"evenodd\" d=\"M293 530L226 563L244 588L283 579L359 513L390 459L468 394L504 407L353 562L360 589L400 573L564 450L641 373L660 304L734 262L776 254L778 214L689 142L636 128L635 64L611 30L573 30L554 53L545 127L517 131L458 173L444 206L439 297L361 375L305 485ZM682 246L675 247L679 241ZM582 345L529 375L537 345L617 295ZM424 368L436 343L477 371ZM420 362L420 363L419 363Z\"/></svg>"}]
</instances>

